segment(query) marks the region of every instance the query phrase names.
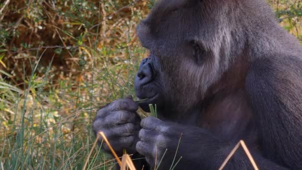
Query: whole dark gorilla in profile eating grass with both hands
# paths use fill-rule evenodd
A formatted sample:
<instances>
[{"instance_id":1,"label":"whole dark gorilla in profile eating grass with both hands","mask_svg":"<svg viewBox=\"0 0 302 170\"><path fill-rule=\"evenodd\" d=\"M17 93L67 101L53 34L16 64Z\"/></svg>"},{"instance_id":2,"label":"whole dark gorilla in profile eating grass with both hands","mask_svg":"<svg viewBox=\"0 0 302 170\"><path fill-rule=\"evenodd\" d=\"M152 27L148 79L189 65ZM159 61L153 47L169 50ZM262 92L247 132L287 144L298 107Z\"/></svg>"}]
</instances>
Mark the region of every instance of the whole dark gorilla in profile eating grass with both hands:
<instances>
[{"instance_id":1,"label":"whole dark gorilla in profile eating grass with both hands","mask_svg":"<svg viewBox=\"0 0 302 170\"><path fill-rule=\"evenodd\" d=\"M260 169L302 169L302 47L265 0L158 0L137 35L150 50L135 77L146 100L115 100L92 124L119 156L217 170L244 140ZM141 119L150 103L158 116ZM225 169L252 165L239 149Z\"/></svg>"}]
</instances>

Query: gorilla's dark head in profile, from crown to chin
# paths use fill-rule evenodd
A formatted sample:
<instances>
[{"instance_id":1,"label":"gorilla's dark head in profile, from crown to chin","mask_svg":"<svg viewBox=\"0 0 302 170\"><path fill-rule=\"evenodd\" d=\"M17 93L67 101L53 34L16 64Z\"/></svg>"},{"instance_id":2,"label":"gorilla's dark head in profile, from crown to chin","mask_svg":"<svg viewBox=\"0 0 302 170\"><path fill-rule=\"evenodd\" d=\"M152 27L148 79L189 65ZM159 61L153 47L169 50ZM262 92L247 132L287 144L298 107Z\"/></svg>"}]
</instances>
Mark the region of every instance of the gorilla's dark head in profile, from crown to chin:
<instances>
[{"instance_id":1,"label":"gorilla's dark head in profile, from crown to chin","mask_svg":"<svg viewBox=\"0 0 302 170\"><path fill-rule=\"evenodd\" d=\"M251 24L245 23L240 6L253 2L242 1L157 2L137 27L142 45L150 50L135 78L136 95L149 98L141 103L144 110L155 103L159 110L188 111L222 88L216 85L235 58L249 53L244 35L245 25Z\"/></svg>"}]
</instances>

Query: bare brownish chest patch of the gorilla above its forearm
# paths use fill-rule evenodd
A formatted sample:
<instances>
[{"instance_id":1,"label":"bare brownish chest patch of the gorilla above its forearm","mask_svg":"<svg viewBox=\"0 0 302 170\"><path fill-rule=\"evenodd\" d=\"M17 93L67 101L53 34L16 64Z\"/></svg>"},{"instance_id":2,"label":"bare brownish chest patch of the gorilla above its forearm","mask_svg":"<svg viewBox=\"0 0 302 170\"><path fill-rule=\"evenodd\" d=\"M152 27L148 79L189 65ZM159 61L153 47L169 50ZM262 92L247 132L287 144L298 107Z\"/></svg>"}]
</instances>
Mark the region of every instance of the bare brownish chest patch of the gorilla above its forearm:
<instances>
[{"instance_id":1,"label":"bare brownish chest patch of the gorilla above its forearm","mask_svg":"<svg viewBox=\"0 0 302 170\"><path fill-rule=\"evenodd\" d=\"M202 112L198 126L224 139L243 139L250 133L256 133L254 115L244 90L215 96Z\"/></svg>"}]
</instances>

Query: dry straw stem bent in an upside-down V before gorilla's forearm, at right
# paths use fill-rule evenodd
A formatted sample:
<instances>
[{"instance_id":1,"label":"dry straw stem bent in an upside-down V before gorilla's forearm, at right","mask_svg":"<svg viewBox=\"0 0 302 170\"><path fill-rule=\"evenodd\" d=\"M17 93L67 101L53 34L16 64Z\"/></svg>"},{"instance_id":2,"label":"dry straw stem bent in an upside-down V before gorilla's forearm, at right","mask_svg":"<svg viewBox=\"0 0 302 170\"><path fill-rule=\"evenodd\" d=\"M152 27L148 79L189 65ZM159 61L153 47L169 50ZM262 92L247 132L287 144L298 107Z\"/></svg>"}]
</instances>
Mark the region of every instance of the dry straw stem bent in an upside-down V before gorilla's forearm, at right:
<instances>
[{"instance_id":1,"label":"dry straw stem bent in an upside-down V before gorilla's forearm, at right","mask_svg":"<svg viewBox=\"0 0 302 170\"><path fill-rule=\"evenodd\" d=\"M221 167L218 170L223 170L223 168L227 165L227 162L230 160L230 158L234 155L234 153L237 151L237 149L239 148L239 146L241 145L241 147L243 148L246 156L248 157L249 161L251 162L254 170L259 170L251 153L248 151L244 141L240 140L237 145L234 147L234 149L228 154L227 159L224 161L224 163L221 165Z\"/></svg>"}]
</instances>

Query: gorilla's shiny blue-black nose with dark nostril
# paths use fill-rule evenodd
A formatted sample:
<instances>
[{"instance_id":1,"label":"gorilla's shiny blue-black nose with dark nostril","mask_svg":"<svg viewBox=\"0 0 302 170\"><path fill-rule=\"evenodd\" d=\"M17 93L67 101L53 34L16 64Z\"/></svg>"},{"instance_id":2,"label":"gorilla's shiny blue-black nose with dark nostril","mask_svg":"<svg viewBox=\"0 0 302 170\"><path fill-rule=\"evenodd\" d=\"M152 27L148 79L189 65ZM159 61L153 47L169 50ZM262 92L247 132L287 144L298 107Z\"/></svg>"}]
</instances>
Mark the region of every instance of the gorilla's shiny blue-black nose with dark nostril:
<instances>
[{"instance_id":1,"label":"gorilla's shiny blue-black nose with dark nostril","mask_svg":"<svg viewBox=\"0 0 302 170\"><path fill-rule=\"evenodd\" d=\"M148 59L144 59L142 61L137 76L139 77L141 85L147 84L152 80L152 76L153 76L152 66L151 63L148 61Z\"/></svg>"}]
</instances>

